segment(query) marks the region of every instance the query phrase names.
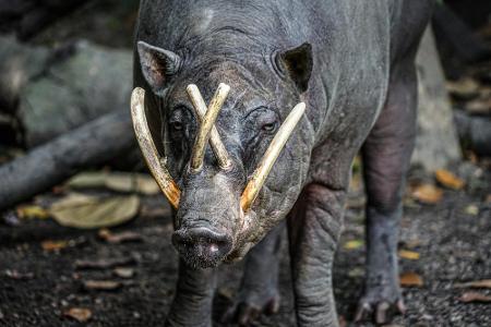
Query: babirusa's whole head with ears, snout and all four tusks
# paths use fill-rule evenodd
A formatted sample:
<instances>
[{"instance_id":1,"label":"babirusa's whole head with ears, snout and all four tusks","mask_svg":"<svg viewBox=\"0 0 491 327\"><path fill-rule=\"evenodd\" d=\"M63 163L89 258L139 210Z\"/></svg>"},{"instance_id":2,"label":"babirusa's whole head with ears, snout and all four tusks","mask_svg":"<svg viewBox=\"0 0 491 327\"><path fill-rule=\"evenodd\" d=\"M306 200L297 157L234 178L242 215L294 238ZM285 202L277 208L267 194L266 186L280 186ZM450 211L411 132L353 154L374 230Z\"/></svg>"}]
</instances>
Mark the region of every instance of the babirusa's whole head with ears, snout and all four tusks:
<instances>
[{"instance_id":1,"label":"babirusa's whole head with ears, snout and all four tusks","mask_svg":"<svg viewBox=\"0 0 491 327\"><path fill-rule=\"evenodd\" d=\"M135 132L176 209L172 244L189 265L243 257L295 204L314 140L301 102L311 52L309 44L258 57L200 43L187 51L137 43L135 86L144 90L133 93ZM145 107L160 117L164 158Z\"/></svg>"}]
</instances>

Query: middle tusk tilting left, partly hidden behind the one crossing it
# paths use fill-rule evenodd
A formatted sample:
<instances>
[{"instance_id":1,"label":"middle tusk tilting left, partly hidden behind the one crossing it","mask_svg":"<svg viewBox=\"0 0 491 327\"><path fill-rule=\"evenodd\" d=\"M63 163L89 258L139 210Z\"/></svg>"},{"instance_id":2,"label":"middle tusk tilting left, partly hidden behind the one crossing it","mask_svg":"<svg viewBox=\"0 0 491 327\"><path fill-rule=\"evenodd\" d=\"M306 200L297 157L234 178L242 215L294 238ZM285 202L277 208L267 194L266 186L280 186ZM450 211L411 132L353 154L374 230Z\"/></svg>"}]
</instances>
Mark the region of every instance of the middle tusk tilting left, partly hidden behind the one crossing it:
<instances>
[{"instance_id":1,"label":"middle tusk tilting left, partly hidden behind the one crossing it","mask_svg":"<svg viewBox=\"0 0 491 327\"><path fill-rule=\"evenodd\" d=\"M207 108L200 93L200 89L195 84L188 85L185 89L188 92L191 102L193 104L200 123L202 123L206 114ZM212 132L209 134L209 143L212 145L213 153L215 154L215 157L218 161L218 166L221 169L230 167L230 160L228 159L227 149L225 148L225 145L221 142L220 135L218 134L218 131L215 128L215 125L212 126Z\"/></svg>"}]
</instances>

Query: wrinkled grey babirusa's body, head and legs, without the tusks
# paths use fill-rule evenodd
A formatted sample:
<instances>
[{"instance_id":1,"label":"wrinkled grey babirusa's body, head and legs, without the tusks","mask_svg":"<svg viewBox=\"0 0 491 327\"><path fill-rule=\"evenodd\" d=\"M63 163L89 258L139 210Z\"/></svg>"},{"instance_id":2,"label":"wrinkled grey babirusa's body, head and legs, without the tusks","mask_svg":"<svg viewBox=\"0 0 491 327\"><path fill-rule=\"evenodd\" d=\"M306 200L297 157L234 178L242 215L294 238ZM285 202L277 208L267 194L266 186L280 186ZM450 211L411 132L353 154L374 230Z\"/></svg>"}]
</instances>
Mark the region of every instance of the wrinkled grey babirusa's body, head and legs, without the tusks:
<instances>
[{"instance_id":1,"label":"wrinkled grey babirusa's body, head and legs, without the tusks","mask_svg":"<svg viewBox=\"0 0 491 327\"><path fill-rule=\"evenodd\" d=\"M431 0L142 1L134 85L146 89L153 136L182 190L172 237L180 274L168 326L211 326L213 267L256 243L225 318L247 325L275 312L284 219L297 324L337 326L332 264L360 148L368 259L358 318L382 323L403 311L397 227L415 137L414 59L431 7ZM231 90L216 126L232 168L220 170L208 147L203 170L191 173L196 117L185 87L196 84L209 101L221 82ZM242 215L248 177L299 101L306 114Z\"/></svg>"}]
</instances>

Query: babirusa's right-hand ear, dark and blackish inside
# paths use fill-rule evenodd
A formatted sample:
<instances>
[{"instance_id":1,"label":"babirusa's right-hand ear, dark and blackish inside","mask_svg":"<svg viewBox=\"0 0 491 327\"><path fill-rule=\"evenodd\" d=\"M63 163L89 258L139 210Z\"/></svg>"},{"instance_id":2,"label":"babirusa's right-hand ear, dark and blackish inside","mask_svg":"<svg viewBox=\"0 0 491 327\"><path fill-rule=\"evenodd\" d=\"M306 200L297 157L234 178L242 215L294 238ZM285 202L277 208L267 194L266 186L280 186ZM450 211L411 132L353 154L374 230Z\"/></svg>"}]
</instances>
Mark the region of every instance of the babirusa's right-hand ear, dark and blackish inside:
<instances>
[{"instance_id":1,"label":"babirusa's right-hand ear, dark and blackish inside","mask_svg":"<svg viewBox=\"0 0 491 327\"><path fill-rule=\"evenodd\" d=\"M300 92L306 92L312 73L312 46L304 43L297 48L286 50L278 55L277 61Z\"/></svg>"}]
</instances>

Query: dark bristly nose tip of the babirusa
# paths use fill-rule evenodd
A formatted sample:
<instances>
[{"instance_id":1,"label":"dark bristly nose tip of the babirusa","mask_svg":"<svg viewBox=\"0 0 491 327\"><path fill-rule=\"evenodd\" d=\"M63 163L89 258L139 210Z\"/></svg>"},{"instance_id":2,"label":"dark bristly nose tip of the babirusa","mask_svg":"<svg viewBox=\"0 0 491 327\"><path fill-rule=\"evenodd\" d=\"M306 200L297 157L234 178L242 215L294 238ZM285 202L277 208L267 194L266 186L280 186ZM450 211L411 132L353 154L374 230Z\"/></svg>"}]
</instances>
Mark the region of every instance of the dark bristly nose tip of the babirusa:
<instances>
[{"instance_id":1,"label":"dark bristly nose tip of the babirusa","mask_svg":"<svg viewBox=\"0 0 491 327\"><path fill-rule=\"evenodd\" d=\"M172 234L181 257L194 267L216 267L231 251L232 238L208 227L181 228Z\"/></svg>"}]
</instances>

